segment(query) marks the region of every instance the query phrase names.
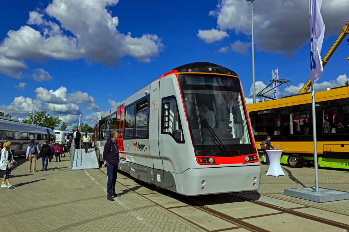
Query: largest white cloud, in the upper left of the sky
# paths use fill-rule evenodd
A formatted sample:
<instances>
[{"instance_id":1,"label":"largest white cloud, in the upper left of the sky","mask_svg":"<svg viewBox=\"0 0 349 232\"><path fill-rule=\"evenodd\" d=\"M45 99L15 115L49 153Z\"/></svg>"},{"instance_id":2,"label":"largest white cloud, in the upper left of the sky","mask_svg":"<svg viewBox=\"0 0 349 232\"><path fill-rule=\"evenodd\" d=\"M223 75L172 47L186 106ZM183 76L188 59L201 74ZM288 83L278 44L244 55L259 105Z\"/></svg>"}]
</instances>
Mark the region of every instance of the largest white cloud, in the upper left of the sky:
<instances>
[{"instance_id":1,"label":"largest white cloud, in the upper left of the sky","mask_svg":"<svg viewBox=\"0 0 349 232\"><path fill-rule=\"evenodd\" d=\"M95 0L93 3L53 0L46 9L31 11L28 25L17 31L10 30L1 43L0 72L22 78L21 72L28 68L23 60L30 59L43 62L50 58L66 61L85 58L87 62L115 66L122 57L129 55L149 62L163 49L161 39L155 34L133 38L131 33L120 33L116 28L118 17L107 10L117 3L118 0ZM42 80L40 77L36 74L35 80Z\"/></svg>"}]
</instances>

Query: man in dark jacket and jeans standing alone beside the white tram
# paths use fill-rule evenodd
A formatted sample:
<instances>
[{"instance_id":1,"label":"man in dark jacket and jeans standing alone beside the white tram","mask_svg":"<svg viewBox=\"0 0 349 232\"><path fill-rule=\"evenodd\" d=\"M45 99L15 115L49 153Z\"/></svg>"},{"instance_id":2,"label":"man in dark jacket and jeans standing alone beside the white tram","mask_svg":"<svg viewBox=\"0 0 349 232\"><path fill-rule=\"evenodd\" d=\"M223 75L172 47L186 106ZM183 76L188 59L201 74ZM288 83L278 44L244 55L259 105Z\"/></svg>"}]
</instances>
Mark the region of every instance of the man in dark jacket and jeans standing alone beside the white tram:
<instances>
[{"instance_id":1,"label":"man in dark jacket and jeans standing alone beside the white tram","mask_svg":"<svg viewBox=\"0 0 349 232\"><path fill-rule=\"evenodd\" d=\"M107 167L107 199L113 201L113 197L118 197L119 195L115 193L115 184L118 174L118 164L119 160L119 149L118 142L116 141L119 137L116 131L110 132L110 138L107 139L103 150L103 167Z\"/></svg>"}]
</instances>

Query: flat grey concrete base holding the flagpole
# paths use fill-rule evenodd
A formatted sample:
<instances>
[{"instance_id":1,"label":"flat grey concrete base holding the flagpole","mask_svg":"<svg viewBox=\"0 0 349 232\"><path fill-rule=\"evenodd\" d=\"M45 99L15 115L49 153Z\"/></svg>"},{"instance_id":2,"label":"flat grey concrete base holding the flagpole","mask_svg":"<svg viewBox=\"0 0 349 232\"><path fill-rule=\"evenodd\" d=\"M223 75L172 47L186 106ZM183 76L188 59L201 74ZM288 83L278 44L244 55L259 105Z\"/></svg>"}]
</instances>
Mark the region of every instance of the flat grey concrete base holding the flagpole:
<instances>
[{"instance_id":1,"label":"flat grey concrete base holding the flagpole","mask_svg":"<svg viewBox=\"0 0 349 232\"><path fill-rule=\"evenodd\" d=\"M284 195L315 202L340 201L349 199L349 192L324 188L319 188L319 192L315 192L315 187L284 189Z\"/></svg>"}]
</instances>

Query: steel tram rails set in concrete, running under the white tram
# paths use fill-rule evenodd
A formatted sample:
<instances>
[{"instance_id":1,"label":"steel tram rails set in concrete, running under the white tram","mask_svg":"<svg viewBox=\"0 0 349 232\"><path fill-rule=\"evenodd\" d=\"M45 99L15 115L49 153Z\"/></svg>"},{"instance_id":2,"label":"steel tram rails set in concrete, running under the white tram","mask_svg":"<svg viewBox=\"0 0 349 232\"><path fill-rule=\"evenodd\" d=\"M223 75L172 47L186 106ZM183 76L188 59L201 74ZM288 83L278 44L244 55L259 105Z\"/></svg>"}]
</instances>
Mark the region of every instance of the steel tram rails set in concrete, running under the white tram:
<instances>
[{"instance_id":1,"label":"steel tram rails set in concrete, running under the white tram","mask_svg":"<svg viewBox=\"0 0 349 232\"><path fill-rule=\"evenodd\" d=\"M104 173L101 169L98 169L98 170L100 170L103 174L106 175L106 173ZM127 176L130 179L133 179L135 182L137 182L137 183L139 183L139 184L141 184L143 186L147 186L150 189L159 192L153 185L149 185L147 183L140 182L138 179L133 178L133 177L129 176L129 174L124 173L122 171L120 171L120 173L124 174L125 176ZM121 184L121 185L124 185L124 184L122 184L120 182L118 182L118 183ZM126 185L124 185L124 186L127 187ZM140 194L140 193L138 193L138 194L142 196L142 194ZM245 221L243 221L244 219L255 218L255 217L264 217L264 216L277 215L277 214L290 214L290 215L294 215L294 216L297 216L297 217L302 217L302 218L305 218L305 219L308 219L308 220L311 220L311 221L324 223L326 225L334 226L334 227L345 229L345 230L349 231L349 225L348 224L332 221L332 220L329 220L327 218L322 218L322 217L318 217L318 216L314 216L314 215L310 215L310 214L306 214L306 213L302 213L302 212L294 210L294 209L300 209L300 208L308 208L310 206L304 206L304 207L297 207L297 208L287 209L287 208L283 208L283 207L280 207L280 206L272 205L272 204L269 204L269 203L266 203L266 202L262 202L262 201L259 201L259 200L251 200L251 199L248 199L246 197L243 197L243 195L241 195L241 194L229 193L229 194L227 194L228 197L233 197L233 198L237 198L237 199L240 199L240 200L243 200L243 201L248 201L248 202L254 203L256 205L260 205L262 207L267 207L267 208L279 211L277 213L266 214L266 215L258 215L258 216L251 216L251 217L235 218L235 217L232 217L230 215L224 214L224 213L222 213L222 212L220 212L218 210L210 209L208 206L201 205L201 204L197 203L195 200L189 199L190 197L188 197L188 196L176 194L175 192L170 192L170 191L168 191L168 192L167 191L163 191L163 192L161 192L161 194L164 194L164 195L166 195L168 197L171 197L171 198L174 198L176 200L179 200L179 201L181 201L183 203L186 203L188 206L194 207L196 209L199 209L201 211L206 212L207 214L210 214L210 215L213 215L213 216L215 216L217 218L223 219L224 221L227 221L227 222L229 222L229 223L231 223L231 224L233 224L235 226L239 226L239 227L241 227L243 229L246 229L248 231L253 231L253 232L268 232L269 230L266 230L266 229L263 229L263 228L261 228L259 226L256 226L256 225L253 225L251 223L245 222ZM154 201L152 201L152 202L154 202ZM166 210L170 209L170 208L165 208L164 206L162 206L161 204L159 204L157 202L154 202L154 203L156 205L166 209ZM171 213L174 213L174 212L171 211ZM174 213L174 214L176 214L176 213ZM176 214L176 215L178 215L178 214ZM178 215L178 216L182 217L181 215ZM182 218L184 218L184 217L182 217ZM202 227L202 226L200 226L200 225L190 221L188 218L184 218L184 219L189 221L189 222L191 222L191 223L193 223L193 224L195 224L195 225L197 225L197 226L199 226L202 229L207 230L206 228L204 228L204 227ZM232 228L228 228L228 229L232 229ZM211 231L211 232L225 231L225 230L228 230L228 229L216 230L216 231Z\"/></svg>"}]
</instances>

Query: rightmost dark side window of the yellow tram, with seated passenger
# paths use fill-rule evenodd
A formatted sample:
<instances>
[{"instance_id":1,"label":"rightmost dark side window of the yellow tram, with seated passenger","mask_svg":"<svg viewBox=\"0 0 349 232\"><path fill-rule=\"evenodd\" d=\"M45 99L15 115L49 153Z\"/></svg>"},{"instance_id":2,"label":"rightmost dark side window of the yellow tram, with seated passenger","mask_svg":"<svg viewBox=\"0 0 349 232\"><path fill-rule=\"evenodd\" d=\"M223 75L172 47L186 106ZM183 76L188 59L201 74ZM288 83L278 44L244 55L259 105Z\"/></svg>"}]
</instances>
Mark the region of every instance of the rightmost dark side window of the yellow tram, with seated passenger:
<instances>
[{"instance_id":1,"label":"rightmost dark side window of the yellow tram, with seated passenger","mask_svg":"<svg viewBox=\"0 0 349 232\"><path fill-rule=\"evenodd\" d=\"M348 106L335 106L324 109L323 133L349 133Z\"/></svg>"}]
</instances>

